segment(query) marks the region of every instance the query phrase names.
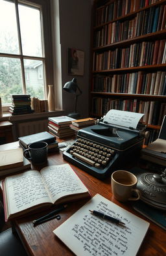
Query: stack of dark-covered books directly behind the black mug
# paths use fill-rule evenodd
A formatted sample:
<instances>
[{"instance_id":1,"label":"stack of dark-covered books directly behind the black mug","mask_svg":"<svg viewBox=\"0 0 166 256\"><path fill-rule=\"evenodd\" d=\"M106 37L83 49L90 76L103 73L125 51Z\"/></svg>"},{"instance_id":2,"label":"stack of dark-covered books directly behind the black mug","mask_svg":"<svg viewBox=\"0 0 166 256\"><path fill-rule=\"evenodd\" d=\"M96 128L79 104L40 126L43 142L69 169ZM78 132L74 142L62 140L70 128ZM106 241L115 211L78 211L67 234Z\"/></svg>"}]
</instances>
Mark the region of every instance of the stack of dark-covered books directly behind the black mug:
<instances>
[{"instance_id":1,"label":"stack of dark-covered books directly behind the black mug","mask_svg":"<svg viewBox=\"0 0 166 256\"><path fill-rule=\"evenodd\" d=\"M56 137L49 132L39 132L38 134L31 134L23 137L19 137L19 145L23 149L27 149L30 143L45 141L48 144L48 152L55 152L59 150Z\"/></svg>"}]
</instances>

